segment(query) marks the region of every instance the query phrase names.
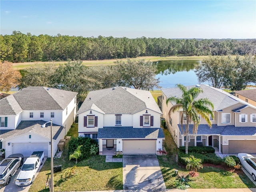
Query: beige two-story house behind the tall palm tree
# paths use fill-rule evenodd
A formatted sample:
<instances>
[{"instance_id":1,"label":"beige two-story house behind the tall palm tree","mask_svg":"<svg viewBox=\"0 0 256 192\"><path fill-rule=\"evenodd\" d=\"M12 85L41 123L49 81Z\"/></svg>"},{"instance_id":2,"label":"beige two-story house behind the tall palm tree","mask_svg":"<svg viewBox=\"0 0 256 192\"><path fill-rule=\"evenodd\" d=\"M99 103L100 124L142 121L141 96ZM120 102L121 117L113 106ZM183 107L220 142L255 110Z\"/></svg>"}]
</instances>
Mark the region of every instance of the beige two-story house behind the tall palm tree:
<instances>
[{"instance_id":1,"label":"beige two-story house behind the tall palm tree","mask_svg":"<svg viewBox=\"0 0 256 192\"><path fill-rule=\"evenodd\" d=\"M187 88L193 86L187 86ZM207 85L200 85L204 91L199 98L208 98L214 104L214 119L212 128L206 120L201 118L197 134L193 135L193 122L190 124L190 135L188 136L189 146L213 146L218 148L222 154L232 153L256 153L256 107L248 104L227 92ZM186 137L181 128L185 130L186 117L182 117L182 109L171 113L168 112L173 106L166 105L166 99L171 96L181 97L179 88L162 89L163 92L163 117L166 118L166 125L178 147L185 146Z\"/></svg>"}]
</instances>

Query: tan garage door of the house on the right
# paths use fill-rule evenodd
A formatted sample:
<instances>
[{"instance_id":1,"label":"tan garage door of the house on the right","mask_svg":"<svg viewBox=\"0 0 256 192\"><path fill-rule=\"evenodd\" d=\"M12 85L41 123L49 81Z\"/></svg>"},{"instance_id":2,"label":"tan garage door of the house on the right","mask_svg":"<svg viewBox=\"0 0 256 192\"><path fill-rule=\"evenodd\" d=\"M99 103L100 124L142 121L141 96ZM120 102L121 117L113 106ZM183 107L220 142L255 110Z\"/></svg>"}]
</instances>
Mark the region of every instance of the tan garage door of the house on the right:
<instances>
[{"instance_id":1,"label":"tan garage door of the house on the right","mask_svg":"<svg viewBox=\"0 0 256 192\"><path fill-rule=\"evenodd\" d=\"M256 140L229 140L229 153L256 153Z\"/></svg>"}]
</instances>

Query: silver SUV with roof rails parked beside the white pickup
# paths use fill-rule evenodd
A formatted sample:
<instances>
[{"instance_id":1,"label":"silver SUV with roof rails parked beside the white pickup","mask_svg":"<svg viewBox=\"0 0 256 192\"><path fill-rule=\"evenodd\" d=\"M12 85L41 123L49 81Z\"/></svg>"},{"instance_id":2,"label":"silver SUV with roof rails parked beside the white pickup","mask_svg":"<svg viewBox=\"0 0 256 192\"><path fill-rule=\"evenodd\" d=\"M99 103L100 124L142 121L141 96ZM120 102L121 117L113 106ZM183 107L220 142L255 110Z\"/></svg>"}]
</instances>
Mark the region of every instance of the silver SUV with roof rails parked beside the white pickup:
<instances>
[{"instance_id":1,"label":"silver SUV with roof rails parked beside the white pickup","mask_svg":"<svg viewBox=\"0 0 256 192\"><path fill-rule=\"evenodd\" d=\"M8 185L11 177L23 163L24 157L22 154L13 155L14 156L10 155L8 158L2 160L0 164L0 185Z\"/></svg>"}]
</instances>

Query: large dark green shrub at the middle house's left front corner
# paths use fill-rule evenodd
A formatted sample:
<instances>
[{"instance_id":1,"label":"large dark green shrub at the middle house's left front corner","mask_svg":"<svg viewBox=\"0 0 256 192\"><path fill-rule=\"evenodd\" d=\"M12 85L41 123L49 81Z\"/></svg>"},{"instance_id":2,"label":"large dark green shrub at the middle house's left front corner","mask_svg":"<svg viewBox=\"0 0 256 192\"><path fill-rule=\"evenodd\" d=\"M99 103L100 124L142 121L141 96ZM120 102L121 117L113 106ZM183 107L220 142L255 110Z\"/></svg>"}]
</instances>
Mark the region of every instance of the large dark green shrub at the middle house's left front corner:
<instances>
[{"instance_id":1,"label":"large dark green shrub at the middle house's left front corner","mask_svg":"<svg viewBox=\"0 0 256 192\"><path fill-rule=\"evenodd\" d=\"M98 152L98 143L96 141L87 137L73 137L68 142L68 153L74 153L80 145L82 145L80 148L82 155L79 159L88 158L92 155L96 155Z\"/></svg>"}]
</instances>

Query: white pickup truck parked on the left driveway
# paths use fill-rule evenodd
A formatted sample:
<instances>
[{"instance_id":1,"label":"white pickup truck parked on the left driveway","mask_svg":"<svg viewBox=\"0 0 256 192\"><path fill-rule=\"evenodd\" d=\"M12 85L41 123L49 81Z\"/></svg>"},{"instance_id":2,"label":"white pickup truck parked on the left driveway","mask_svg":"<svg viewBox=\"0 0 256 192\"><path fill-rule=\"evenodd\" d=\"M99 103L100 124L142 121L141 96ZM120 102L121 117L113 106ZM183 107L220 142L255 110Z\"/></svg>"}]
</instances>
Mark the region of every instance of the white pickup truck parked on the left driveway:
<instances>
[{"instance_id":1,"label":"white pickup truck parked on the left driveway","mask_svg":"<svg viewBox=\"0 0 256 192\"><path fill-rule=\"evenodd\" d=\"M44 162L44 152L36 151L26 159L20 173L16 178L15 184L18 186L29 185L34 182L35 174L41 164Z\"/></svg>"}]
</instances>

